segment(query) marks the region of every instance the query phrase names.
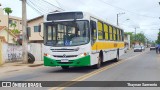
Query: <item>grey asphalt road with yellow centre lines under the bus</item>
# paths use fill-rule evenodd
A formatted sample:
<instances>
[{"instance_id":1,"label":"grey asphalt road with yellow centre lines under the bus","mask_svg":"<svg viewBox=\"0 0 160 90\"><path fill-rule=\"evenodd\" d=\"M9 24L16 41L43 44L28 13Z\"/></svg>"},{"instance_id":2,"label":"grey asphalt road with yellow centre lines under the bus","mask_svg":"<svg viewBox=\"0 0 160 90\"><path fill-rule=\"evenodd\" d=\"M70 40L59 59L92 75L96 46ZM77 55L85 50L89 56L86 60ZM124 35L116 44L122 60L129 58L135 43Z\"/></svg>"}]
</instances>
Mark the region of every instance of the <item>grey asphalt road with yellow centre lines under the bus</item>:
<instances>
[{"instance_id":1,"label":"grey asphalt road with yellow centre lines under the bus","mask_svg":"<svg viewBox=\"0 0 160 90\"><path fill-rule=\"evenodd\" d=\"M120 57L119 62L108 61L102 68L96 70L91 67L70 68L62 70L60 67L33 67L25 71L8 72L0 75L0 81L160 81L160 55L155 51L129 51ZM78 84L78 83L75 83ZM72 85L72 84L71 84ZM71 86L69 85L69 86ZM0 88L2 89L2 88ZM6 89L6 88L5 88ZM19 89L19 88L15 88ZM26 88L27 89L27 88ZM35 89L35 88L32 88ZM38 88L37 88L38 89ZM40 89L40 88L39 88ZM125 88L41 88L66 90L135 90ZM136 88L139 90L159 90L160 88Z\"/></svg>"}]
</instances>

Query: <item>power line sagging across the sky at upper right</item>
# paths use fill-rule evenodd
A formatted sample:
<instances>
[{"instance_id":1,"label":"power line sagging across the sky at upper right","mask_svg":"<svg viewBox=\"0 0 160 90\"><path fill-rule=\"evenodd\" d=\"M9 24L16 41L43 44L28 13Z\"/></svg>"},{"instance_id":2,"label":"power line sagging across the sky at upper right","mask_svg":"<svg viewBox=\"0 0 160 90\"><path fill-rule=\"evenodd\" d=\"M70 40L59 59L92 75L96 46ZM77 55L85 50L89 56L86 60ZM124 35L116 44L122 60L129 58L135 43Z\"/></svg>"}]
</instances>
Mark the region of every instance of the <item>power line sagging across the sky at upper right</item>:
<instances>
[{"instance_id":1,"label":"power line sagging across the sky at upper right","mask_svg":"<svg viewBox=\"0 0 160 90\"><path fill-rule=\"evenodd\" d=\"M120 10L123 10L123 11L126 11L126 12L129 12L129 13L133 13L133 14L138 15L138 16L143 16L143 17L148 17L148 18L159 18L159 17L148 16L148 15L141 15L141 14L138 14L138 13L135 13L135 12L132 12L132 11L129 11L129 10L126 10L126 9L123 9L123 8L120 8L120 7L117 7L117 6L114 6L114 5L112 5L112 4L110 4L110 3L107 3L107 2L105 2L105 1L103 1L103 0L98 0L98 1L101 1L102 3L107 4L107 5L109 5L109 6L112 6L112 7L114 7L114 8L117 8L117 9L120 9Z\"/></svg>"}]
</instances>

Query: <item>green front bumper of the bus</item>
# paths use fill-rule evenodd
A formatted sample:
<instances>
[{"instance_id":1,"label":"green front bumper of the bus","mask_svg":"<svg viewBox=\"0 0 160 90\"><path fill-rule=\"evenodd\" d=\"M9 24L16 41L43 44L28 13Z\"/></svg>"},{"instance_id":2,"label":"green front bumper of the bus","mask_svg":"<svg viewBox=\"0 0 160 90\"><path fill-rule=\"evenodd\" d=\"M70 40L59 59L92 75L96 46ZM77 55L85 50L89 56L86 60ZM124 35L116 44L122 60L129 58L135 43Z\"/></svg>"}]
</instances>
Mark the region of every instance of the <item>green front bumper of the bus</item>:
<instances>
[{"instance_id":1,"label":"green front bumper of the bus","mask_svg":"<svg viewBox=\"0 0 160 90\"><path fill-rule=\"evenodd\" d=\"M61 62L61 60L55 60L44 56L44 66L90 66L90 55L74 60L69 60L69 62Z\"/></svg>"}]
</instances>

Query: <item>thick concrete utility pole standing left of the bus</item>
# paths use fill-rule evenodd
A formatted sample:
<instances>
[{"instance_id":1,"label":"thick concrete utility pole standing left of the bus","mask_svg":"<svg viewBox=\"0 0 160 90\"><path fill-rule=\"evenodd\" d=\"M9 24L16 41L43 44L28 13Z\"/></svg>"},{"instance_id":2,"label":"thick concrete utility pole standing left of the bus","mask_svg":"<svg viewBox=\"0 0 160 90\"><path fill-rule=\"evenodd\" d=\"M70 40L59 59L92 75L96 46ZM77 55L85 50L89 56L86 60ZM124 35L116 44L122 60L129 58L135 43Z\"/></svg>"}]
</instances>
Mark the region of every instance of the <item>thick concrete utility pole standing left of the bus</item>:
<instances>
[{"instance_id":1,"label":"thick concrete utility pole standing left of the bus","mask_svg":"<svg viewBox=\"0 0 160 90\"><path fill-rule=\"evenodd\" d=\"M28 40L27 40L27 14L26 14L26 0L22 0L22 48L23 48L23 63L28 63Z\"/></svg>"}]
</instances>

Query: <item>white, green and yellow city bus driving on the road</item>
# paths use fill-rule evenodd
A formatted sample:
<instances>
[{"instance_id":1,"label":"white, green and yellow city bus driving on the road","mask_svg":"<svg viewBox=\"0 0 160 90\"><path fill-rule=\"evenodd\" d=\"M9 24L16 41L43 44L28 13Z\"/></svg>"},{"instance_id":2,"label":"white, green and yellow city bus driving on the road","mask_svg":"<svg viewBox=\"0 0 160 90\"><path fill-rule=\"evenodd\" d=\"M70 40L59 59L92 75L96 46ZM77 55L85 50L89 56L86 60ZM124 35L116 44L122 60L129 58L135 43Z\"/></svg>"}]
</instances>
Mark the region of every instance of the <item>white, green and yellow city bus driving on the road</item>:
<instances>
[{"instance_id":1,"label":"white, green and yellow city bus driving on the road","mask_svg":"<svg viewBox=\"0 0 160 90\"><path fill-rule=\"evenodd\" d=\"M44 66L94 66L118 61L124 53L123 29L85 12L45 15Z\"/></svg>"}]
</instances>

